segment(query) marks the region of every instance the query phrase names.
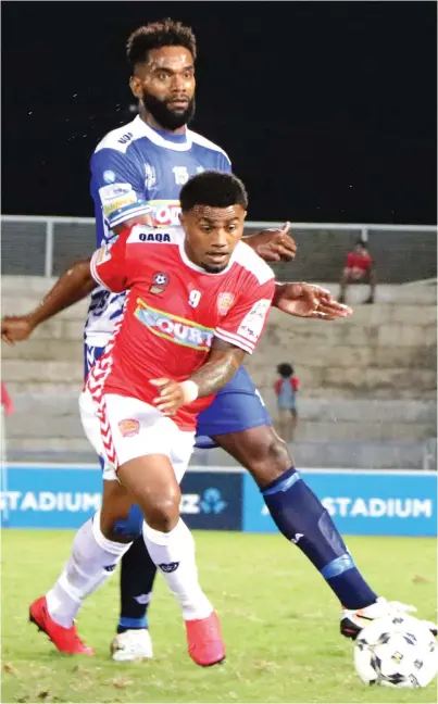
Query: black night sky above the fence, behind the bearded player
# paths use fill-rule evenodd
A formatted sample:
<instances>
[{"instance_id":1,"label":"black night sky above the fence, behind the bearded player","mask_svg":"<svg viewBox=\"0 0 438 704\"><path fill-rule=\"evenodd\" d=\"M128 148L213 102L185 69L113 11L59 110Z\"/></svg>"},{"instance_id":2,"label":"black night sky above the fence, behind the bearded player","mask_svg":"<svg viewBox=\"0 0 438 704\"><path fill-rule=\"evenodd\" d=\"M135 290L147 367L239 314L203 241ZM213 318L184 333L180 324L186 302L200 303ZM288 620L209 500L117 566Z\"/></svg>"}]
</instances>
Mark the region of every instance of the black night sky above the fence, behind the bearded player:
<instances>
[{"instance_id":1,"label":"black night sky above the fence, behind the bearded player","mask_svg":"<svg viewBox=\"0 0 438 704\"><path fill-rule=\"evenodd\" d=\"M88 161L133 118L125 42L197 35L191 127L250 219L436 223L435 2L2 3L2 212L92 215Z\"/></svg>"}]
</instances>

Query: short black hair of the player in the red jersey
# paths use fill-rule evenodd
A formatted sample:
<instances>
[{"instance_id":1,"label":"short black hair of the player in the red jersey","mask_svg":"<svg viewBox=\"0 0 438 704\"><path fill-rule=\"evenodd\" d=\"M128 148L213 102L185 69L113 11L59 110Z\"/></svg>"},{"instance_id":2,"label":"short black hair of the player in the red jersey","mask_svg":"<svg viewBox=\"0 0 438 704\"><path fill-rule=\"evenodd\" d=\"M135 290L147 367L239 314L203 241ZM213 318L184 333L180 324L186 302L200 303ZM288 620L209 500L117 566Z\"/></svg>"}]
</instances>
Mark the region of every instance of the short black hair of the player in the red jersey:
<instances>
[{"instance_id":1,"label":"short black hair of the player in the red jersey","mask_svg":"<svg viewBox=\"0 0 438 704\"><path fill-rule=\"evenodd\" d=\"M183 213L195 205L211 208L229 208L242 205L248 208L248 194L240 178L226 172L207 171L192 176L179 193Z\"/></svg>"}]
</instances>

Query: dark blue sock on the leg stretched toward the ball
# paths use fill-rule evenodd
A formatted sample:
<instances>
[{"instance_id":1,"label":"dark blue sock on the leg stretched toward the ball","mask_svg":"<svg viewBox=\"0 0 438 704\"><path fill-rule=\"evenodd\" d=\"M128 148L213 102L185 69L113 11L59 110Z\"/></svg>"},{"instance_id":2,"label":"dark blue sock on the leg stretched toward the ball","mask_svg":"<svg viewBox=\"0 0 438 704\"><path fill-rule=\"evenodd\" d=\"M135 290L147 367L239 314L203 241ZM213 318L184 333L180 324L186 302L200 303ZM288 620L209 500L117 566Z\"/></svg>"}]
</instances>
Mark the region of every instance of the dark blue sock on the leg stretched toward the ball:
<instances>
[{"instance_id":1,"label":"dark blue sock on the leg stretched toward the ball","mask_svg":"<svg viewBox=\"0 0 438 704\"><path fill-rule=\"evenodd\" d=\"M346 608L364 608L376 601L327 510L295 467L262 494L278 530L309 557Z\"/></svg>"}]
</instances>

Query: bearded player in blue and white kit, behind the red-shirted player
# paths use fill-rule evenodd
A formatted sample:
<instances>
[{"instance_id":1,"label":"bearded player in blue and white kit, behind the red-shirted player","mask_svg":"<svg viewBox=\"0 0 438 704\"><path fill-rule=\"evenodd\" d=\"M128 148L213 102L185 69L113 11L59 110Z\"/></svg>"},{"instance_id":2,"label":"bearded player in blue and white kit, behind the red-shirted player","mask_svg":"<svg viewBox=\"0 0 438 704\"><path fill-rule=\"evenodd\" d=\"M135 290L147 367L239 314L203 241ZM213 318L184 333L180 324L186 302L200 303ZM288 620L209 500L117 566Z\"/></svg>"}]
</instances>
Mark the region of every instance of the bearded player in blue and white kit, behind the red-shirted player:
<instances>
[{"instance_id":1,"label":"bearded player in blue and white kit, behind the red-shirted player","mask_svg":"<svg viewBox=\"0 0 438 704\"><path fill-rule=\"evenodd\" d=\"M151 208L155 225L177 224L179 190L188 178L204 169L230 171L225 152L187 127L195 111L196 53L191 29L170 20L140 27L130 36L130 87L140 114L109 133L91 159L98 247L135 222L149 222ZM287 228L246 241L267 260L293 255ZM74 282L74 267L70 276ZM71 294L62 307L83 293ZM42 306L49 310L54 301L53 311L61 310L55 299L49 294ZM93 291L85 331L86 374L102 354L123 304L123 294ZM330 319L346 314L322 289L305 285L277 285L274 305L306 317ZM3 339L24 339L48 317L40 315L41 310L25 319L3 320ZM199 416L198 447L209 445L220 445L250 472L278 529L308 556L338 596L345 636L355 638L370 619L392 613L395 606L378 599L366 583L327 511L301 479L243 367ZM122 561L122 609L112 648L116 661L152 656L147 609L155 566L141 538L141 520L139 512L133 511L120 526L127 537L139 538Z\"/></svg>"}]
</instances>

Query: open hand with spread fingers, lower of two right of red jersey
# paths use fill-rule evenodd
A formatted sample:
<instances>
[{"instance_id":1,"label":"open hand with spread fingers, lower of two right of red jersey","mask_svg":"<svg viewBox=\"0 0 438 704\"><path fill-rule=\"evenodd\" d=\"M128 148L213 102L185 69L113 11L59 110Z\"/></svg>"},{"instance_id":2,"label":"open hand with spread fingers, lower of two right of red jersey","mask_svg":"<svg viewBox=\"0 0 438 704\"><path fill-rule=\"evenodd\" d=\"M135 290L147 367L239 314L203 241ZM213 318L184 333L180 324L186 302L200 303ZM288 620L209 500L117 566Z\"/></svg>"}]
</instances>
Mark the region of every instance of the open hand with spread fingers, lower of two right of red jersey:
<instances>
[{"instance_id":1,"label":"open hand with spread fingers, lower of two right of red jersey","mask_svg":"<svg viewBox=\"0 0 438 704\"><path fill-rule=\"evenodd\" d=\"M338 303L327 289L314 284L278 286L274 305L288 315L320 320L336 320L353 314L351 307Z\"/></svg>"}]
</instances>

